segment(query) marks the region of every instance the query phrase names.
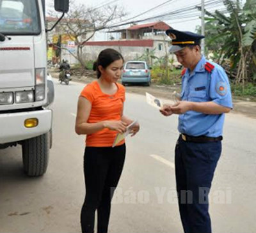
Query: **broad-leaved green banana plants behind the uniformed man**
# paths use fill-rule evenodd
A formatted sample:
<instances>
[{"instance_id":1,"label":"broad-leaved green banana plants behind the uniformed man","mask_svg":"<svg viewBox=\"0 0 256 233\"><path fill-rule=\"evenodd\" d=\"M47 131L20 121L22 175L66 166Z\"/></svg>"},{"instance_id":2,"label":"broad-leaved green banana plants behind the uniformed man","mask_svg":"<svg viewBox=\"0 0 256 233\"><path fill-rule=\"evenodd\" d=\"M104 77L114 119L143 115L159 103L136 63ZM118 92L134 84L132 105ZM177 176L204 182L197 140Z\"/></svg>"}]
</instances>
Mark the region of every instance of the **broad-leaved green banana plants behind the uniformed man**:
<instances>
[{"instance_id":1,"label":"broad-leaved green banana plants behind the uniformed man","mask_svg":"<svg viewBox=\"0 0 256 233\"><path fill-rule=\"evenodd\" d=\"M231 68L237 68L236 83L246 82L252 77L255 66L255 38L256 38L256 0L247 0L246 4L236 0L223 0L228 13L205 11L208 15L207 41L210 46L220 52L220 58L229 59ZM216 46L214 46L216 45Z\"/></svg>"}]
</instances>

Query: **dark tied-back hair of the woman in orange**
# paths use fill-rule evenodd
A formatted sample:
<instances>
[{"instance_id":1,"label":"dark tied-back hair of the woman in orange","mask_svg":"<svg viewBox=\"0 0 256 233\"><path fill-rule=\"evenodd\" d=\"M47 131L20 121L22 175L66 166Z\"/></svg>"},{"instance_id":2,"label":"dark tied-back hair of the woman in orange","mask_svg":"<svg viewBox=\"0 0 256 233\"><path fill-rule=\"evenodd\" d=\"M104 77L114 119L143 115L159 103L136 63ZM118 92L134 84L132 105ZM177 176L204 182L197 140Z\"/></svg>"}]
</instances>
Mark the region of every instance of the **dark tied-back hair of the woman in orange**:
<instances>
[{"instance_id":1,"label":"dark tied-back hair of the woman in orange","mask_svg":"<svg viewBox=\"0 0 256 233\"><path fill-rule=\"evenodd\" d=\"M102 66L104 69L106 69L109 64L120 59L124 61L124 57L122 56L122 54L120 54L120 52L116 51L115 49L102 50L98 56L97 61L93 63L93 70L97 71L97 78L99 79L101 75L99 66Z\"/></svg>"}]
</instances>

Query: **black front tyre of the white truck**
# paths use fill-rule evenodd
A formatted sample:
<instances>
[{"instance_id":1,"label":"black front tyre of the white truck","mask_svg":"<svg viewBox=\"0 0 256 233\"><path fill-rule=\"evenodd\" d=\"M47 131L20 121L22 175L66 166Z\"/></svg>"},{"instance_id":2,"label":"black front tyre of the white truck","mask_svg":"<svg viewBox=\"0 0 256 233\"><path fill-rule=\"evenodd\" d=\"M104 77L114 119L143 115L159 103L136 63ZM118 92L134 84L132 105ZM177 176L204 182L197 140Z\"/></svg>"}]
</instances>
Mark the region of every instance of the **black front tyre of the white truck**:
<instances>
[{"instance_id":1,"label":"black front tyre of the white truck","mask_svg":"<svg viewBox=\"0 0 256 233\"><path fill-rule=\"evenodd\" d=\"M49 133L45 133L22 143L24 172L28 176L42 176L47 169L49 157Z\"/></svg>"}]
</instances>

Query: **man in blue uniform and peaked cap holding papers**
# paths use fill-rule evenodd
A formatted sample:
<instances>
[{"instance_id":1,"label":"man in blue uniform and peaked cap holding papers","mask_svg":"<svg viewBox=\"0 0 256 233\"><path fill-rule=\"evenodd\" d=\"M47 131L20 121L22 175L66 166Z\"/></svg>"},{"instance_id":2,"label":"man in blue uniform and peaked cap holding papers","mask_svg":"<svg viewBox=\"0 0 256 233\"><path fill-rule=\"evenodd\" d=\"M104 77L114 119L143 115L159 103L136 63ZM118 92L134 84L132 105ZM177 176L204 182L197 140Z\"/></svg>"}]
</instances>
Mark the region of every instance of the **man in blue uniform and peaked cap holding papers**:
<instances>
[{"instance_id":1,"label":"man in blue uniform and peaked cap holding papers","mask_svg":"<svg viewBox=\"0 0 256 233\"><path fill-rule=\"evenodd\" d=\"M221 154L225 113L232 109L228 77L216 63L201 55L204 36L169 29L170 52L182 71L180 100L164 105L164 116L179 114L180 133L175 147L175 176L180 218L186 233L210 233L208 194Z\"/></svg>"}]
</instances>

